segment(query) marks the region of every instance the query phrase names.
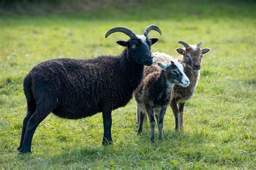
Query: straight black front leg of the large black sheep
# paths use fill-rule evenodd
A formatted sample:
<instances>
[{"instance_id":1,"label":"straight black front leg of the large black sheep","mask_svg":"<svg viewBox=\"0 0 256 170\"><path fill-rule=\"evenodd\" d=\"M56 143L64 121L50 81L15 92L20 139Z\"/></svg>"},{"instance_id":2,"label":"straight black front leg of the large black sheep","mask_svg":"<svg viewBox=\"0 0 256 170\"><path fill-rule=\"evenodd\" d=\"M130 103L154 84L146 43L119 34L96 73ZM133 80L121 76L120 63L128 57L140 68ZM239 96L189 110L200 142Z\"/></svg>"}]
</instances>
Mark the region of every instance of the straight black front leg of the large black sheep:
<instances>
[{"instance_id":1,"label":"straight black front leg of the large black sheep","mask_svg":"<svg viewBox=\"0 0 256 170\"><path fill-rule=\"evenodd\" d=\"M112 126L111 111L102 112L102 115L103 115L103 125L104 125L104 136L103 136L102 145L106 146L106 145L112 143L112 137L111 137L111 126Z\"/></svg>"}]
</instances>

